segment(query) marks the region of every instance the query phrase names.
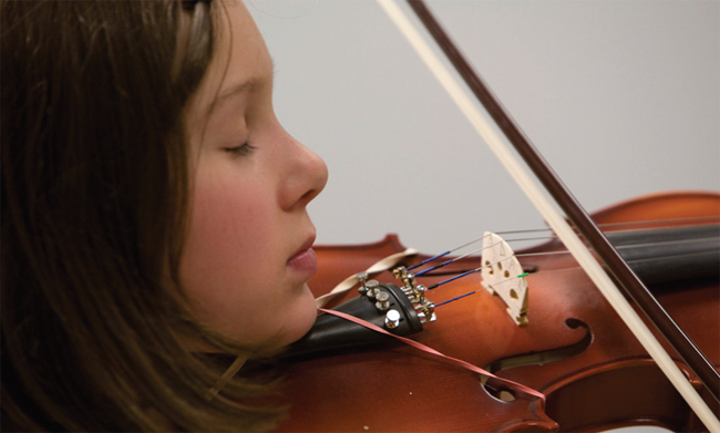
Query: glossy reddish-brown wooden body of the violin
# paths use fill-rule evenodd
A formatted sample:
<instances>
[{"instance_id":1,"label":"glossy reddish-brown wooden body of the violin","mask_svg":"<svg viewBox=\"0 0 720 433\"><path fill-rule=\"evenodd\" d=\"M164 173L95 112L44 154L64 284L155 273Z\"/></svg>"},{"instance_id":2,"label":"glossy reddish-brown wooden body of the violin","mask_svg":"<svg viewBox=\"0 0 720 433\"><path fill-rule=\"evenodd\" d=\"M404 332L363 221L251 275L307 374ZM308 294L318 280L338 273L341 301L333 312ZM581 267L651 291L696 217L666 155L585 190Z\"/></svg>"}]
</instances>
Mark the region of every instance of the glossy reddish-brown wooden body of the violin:
<instances>
[{"instance_id":1,"label":"glossy reddish-brown wooden body of the violin","mask_svg":"<svg viewBox=\"0 0 720 433\"><path fill-rule=\"evenodd\" d=\"M626 202L594 215L597 224L720 216L720 195L670 193ZM636 227L657 227L658 223ZM619 226L618 226L619 227ZM521 252L562 249L556 241ZM362 246L316 247L320 271L310 280L316 296L382 257L404 250L395 236ZM414 256L405 265L426 257ZM651 424L673 431L704 426L662 375L570 255L521 258L529 286L528 324L518 327L498 297L481 286L480 274L428 292L435 303L477 290L436 309L438 320L411 338L546 394L505 393L498 399L477 374L401 342L343 349L292 359L287 365L290 412L279 431L597 431ZM461 259L423 277L429 286L476 268ZM374 277L395 282L390 272ZM720 365L718 278L652 287L659 302L710 362ZM357 297L354 290L336 303ZM329 306L332 307L332 306ZM655 330L654 330L655 332ZM656 332L690 379L702 385ZM703 391L700 391L701 394ZM511 392L512 394L512 392ZM717 402L706 399L713 411Z\"/></svg>"}]
</instances>

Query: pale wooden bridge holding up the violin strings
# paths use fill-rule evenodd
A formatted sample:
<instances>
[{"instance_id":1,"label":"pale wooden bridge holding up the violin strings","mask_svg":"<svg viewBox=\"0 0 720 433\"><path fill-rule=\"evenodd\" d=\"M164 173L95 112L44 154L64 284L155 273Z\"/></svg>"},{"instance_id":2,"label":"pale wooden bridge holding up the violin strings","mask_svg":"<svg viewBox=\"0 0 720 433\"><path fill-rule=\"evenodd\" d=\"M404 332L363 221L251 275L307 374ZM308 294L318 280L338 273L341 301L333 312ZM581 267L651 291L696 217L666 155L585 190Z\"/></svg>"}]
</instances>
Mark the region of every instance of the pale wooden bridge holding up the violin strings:
<instances>
[{"instance_id":1,"label":"pale wooden bridge holding up the violin strings","mask_svg":"<svg viewBox=\"0 0 720 433\"><path fill-rule=\"evenodd\" d=\"M523 266L503 238L491 231L483 237L482 285L505 302L520 327L527 324L527 281Z\"/></svg>"}]
</instances>

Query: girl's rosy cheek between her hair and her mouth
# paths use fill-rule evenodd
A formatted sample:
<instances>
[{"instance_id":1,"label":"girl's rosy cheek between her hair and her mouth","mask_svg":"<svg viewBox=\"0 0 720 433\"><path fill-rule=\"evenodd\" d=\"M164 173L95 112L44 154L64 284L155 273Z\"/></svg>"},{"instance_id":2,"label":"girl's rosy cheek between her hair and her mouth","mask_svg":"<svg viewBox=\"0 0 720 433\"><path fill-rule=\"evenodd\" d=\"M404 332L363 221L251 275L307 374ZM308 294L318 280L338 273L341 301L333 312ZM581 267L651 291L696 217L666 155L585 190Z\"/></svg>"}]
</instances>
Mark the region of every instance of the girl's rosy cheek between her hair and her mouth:
<instances>
[{"instance_id":1,"label":"girl's rosy cheek between her hair and her mouth","mask_svg":"<svg viewBox=\"0 0 720 433\"><path fill-rule=\"evenodd\" d=\"M264 193L257 185L239 187L215 177L196 182L181 269L203 319L222 318L229 305L260 301L259 293L244 288L269 271L261 258L271 244L272 215Z\"/></svg>"}]
</instances>

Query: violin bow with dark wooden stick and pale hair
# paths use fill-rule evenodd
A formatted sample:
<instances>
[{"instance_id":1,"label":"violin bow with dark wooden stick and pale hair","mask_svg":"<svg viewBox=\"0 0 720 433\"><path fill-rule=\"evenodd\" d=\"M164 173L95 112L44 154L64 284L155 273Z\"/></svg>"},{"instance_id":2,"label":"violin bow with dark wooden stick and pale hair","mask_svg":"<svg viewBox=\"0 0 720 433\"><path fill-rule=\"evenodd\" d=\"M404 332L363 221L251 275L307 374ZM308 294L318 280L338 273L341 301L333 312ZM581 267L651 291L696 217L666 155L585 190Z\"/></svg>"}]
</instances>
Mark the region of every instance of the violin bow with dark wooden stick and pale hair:
<instances>
[{"instance_id":1,"label":"violin bow with dark wooden stick and pale hair","mask_svg":"<svg viewBox=\"0 0 720 433\"><path fill-rule=\"evenodd\" d=\"M453 101L461 109L477 133L488 144L495 156L517 182L529 200L543 215L547 224L566 245L578 264L585 269L589 278L603 292L608 302L618 312L620 318L628 326L630 331L640 341L658 367L675 385L682 398L693 409L704 425L713 432L720 432L720 421L700 398L698 392L690 385L680 369L675 364L670 355L662 349L652 332L645 326L640 317L635 312L630 303L615 286L610 277L603 269L600 264L593 257L593 254L583 244L566 219L557 212L539 185L532 178L527 169L523 167L517 157L511 152L503 138L491 126L488 120L475 106L466 95L462 86L448 71L444 64L435 55L430 45L423 40L420 33L411 24L402 9L394 0L378 0L382 9L388 13L391 21L398 27L408 42L415 49L425 65L443 85ZM485 106L490 115L515 146L525 163L533 169L545 188L553 195L556 203L565 212L567 218L585 236L588 244L595 249L600 259L606 264L610 272L623 283L626 292L636 301L640 309L656 324L670 344L680 353L689 368L700 378L706 388L720 401L718 383L720 374L712 364L704 358L697 347L682 333L680 328L669 318L667 312L650 295L647 288L627 266L615 248L609 244L605 235L595 225L589 215L575 200L569 190L563 185L559 178L552 171L535 147L529 143L520 127L505 112L496 97L487 90L480 76L467 63L464 56L452 43L445 31L434 19L422 0L408 0L428 31L435 39L449 60L453 63L466 85Z\"/></svg>"}]
</instances>

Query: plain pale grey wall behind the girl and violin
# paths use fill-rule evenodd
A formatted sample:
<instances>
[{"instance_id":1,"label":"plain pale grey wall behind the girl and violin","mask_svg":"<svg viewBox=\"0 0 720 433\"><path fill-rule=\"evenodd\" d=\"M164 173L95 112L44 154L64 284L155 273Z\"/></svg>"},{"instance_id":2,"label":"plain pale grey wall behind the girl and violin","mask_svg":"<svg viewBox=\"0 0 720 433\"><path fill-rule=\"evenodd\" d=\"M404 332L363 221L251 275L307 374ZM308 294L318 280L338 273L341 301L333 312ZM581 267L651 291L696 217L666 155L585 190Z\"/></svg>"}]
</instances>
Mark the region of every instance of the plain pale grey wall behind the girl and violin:
<instances>
[{"instance_id":1,"label":"plain pale grey wall behind the girl and violin","mask_svg":"<svg viewBox=\"0 0 720 433\"><path fill-rule=\"evenodd\" d=\"M374 1L247 3L280 122L329 166L319 244L436 252L544 226ZM720 2L429 4L586 209L720 189Z\"/></svg>"}]
</instances>

